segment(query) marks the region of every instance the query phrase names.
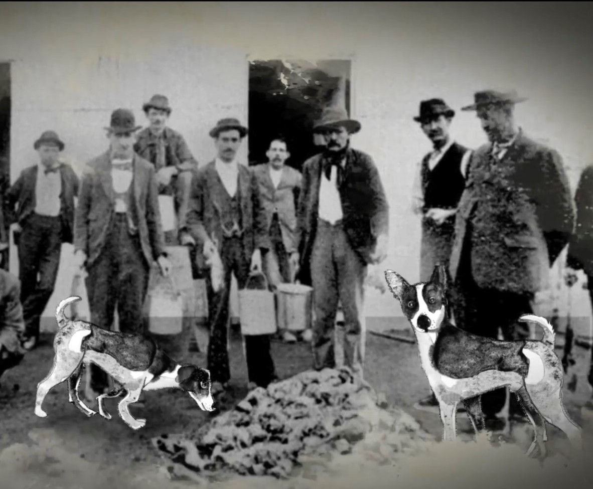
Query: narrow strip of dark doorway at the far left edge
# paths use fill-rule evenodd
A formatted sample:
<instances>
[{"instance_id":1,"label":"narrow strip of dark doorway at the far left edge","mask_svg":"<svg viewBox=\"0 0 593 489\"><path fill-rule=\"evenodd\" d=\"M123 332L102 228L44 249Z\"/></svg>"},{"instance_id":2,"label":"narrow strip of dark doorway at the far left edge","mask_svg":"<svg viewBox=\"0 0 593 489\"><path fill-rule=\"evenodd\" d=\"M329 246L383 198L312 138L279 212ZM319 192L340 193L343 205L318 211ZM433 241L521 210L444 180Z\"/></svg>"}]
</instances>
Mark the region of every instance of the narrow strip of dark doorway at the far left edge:
<instances>
[{"instance_id":1,"label":"narrow strip of dark doorway at the far left edge","mask_svg":"<svg viewBox=\"0 0 593 489\"><path fill-rule=\"evenodd\" d=\"M10 187L10 63L0 63L0 267L8 270L9 248L4 245L9 242L9 224L5 219L4 194Z\"/></svg>"}]
</instances>

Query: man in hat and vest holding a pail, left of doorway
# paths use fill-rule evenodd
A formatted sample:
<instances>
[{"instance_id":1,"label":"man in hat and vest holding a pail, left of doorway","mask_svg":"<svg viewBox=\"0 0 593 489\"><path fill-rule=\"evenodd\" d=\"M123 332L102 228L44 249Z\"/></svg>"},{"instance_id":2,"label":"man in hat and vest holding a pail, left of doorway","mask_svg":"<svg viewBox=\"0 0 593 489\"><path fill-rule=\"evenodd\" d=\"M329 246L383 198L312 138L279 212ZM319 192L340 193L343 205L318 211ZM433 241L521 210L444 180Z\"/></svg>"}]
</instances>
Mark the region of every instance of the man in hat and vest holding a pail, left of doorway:
<instances>
[{"instance_id":1,"label":"man in hat and vest holding a pail, left of doorway","mask_svg":"<svg viewBox=\"0 0 593 489\"><path fill-rule=\"evenodd\" d=\"M208 369L212 393L224 391L231 378L228 359L229 293L231 274L244 289L250 271L262 271L262 251L269 249L267 218L253 172L239 164L236 154L247 127L237 119L221 119L210 131L217 156L201 168L192 182L186 226L181 244L197 244L206 261L218 254L224 267L224 286L218 291L208 279ZM265 387L275 378L270 335L246 335L244 351L250 383Z\"/></svg>"}]
</instances>

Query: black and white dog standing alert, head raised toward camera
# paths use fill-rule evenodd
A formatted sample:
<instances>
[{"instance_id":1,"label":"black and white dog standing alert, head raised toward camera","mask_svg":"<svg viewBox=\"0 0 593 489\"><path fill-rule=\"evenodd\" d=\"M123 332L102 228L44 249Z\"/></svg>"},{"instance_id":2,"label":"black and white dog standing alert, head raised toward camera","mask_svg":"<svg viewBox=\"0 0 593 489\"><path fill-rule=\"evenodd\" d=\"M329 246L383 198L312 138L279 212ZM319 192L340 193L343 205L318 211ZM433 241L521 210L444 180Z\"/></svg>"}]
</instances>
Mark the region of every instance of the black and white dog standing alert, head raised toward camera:
<instances>
[{"instance_id":1,"label":"black and white dog standing alert, head raised toward camera","mask_svg":"<svg viewBox=\"0 0 593 489\"><path fill-rule=\"evenodd\" d=\"M385 271L385 279L412 324L422 369L439 401L445 441L452 441L457 435L458 402L463 402L479 434L484 430L480 396L508 386L534 427L534 440L527 455L532 455L536 448L541 457L546 455L545 421L566 433L574 448L582 449L581 430L564 409L563 369L554 353L554 331L546 319L535 315L519 318L543 328L541 341L492 340L467 333L448 322L445 267L436 266L427 283L409 285L392 270Z\"/></svg>"}]
</instances>

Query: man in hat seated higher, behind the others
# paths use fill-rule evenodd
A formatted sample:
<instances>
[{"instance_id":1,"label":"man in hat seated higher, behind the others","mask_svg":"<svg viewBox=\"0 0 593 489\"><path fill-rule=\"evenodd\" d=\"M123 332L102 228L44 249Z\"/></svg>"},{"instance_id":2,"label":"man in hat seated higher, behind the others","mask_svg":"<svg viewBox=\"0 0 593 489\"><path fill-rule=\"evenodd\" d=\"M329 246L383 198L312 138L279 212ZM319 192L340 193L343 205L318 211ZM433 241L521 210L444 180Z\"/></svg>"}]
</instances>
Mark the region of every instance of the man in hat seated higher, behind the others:
<instances>
[{"instance_id":1,"label":"man in hat seated higher, behind the others","mask_svg":"<svg viewBox=\"0 0 593 489\"><path fill-rule=\"evenodd\" d=\"M167 126L172 108L164 95L153 95L142 106L149 126L138 133L134 151L151 162L157 171L158 193L174 197L177 228L187 213L192 176L197 171L197 161L186 140ZM177 229L165 232L165 242L176 244Z\"/></svg>"}]
</instances>

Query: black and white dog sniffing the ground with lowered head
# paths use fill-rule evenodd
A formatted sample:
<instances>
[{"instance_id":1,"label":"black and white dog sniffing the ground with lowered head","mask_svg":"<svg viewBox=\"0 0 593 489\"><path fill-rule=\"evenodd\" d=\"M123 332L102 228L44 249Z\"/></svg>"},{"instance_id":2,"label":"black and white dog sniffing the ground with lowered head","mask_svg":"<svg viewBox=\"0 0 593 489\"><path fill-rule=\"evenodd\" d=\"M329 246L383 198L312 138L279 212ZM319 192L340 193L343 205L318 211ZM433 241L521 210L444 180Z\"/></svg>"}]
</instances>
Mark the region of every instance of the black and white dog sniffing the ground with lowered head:
<instances>
[{"instance_id":1,"label":"black and white dog sniffing the ground with lowered head","mask_svg":"<svg viewBox=\"0 0 593 489\"><path fill-rule=\"evenodd\" d=\"M213 411L209 370L195 365L178 365L153 340L136 334L103 330L86 321L71 321L64 309L80 301L72 296L59 303L56 309L58 333L53 340L53 367L37 385L35 414L46 417L43 399L54 386L68 380L68 400L87 416L97 414L78 397L78 385L84 362L92 362L122 386L97 397L99 414L111 415L103 409L104 398L126 396L119 403L119 416L132 429L144 427L146 420L136 420L128 411L138 401L142 391L178 388L186 391L203 411Z\"/></svg>"}]
</instances>

